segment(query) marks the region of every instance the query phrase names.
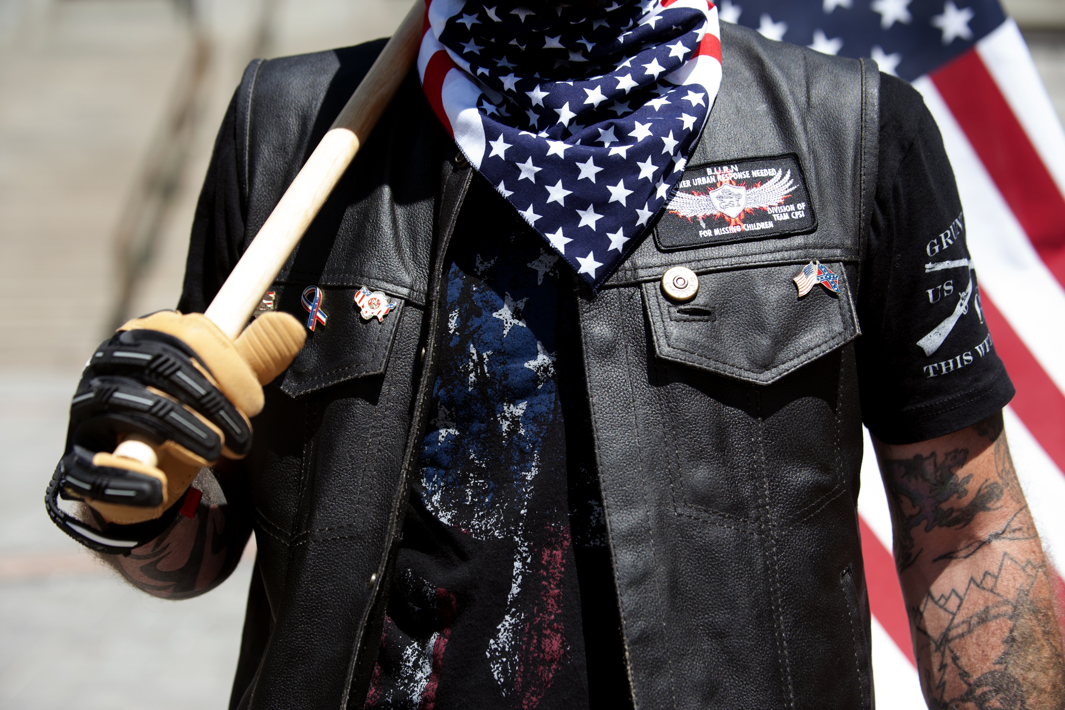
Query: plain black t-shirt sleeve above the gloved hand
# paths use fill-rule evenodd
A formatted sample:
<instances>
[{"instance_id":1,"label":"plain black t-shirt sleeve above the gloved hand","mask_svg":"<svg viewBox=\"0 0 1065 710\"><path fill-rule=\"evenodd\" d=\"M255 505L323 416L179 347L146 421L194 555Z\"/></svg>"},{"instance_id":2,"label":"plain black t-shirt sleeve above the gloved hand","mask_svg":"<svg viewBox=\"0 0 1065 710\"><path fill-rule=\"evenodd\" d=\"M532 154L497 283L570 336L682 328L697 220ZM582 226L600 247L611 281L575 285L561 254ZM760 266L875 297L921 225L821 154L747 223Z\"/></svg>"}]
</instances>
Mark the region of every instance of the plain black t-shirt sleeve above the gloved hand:
<instances>
[{"instance_id":1,"label":"plain black t-shirt sleeve above the gloved hand","mask_svg":"<svg viewBox=\"0 0 1065 710\"><path fill-rule=\"evenodd\" d=\"M196 203L185 279L178 301L182 313L202 313L240 259L245 201L237 168L236 99L234 94L218 129Z\"/></svg>"}]
</instances>

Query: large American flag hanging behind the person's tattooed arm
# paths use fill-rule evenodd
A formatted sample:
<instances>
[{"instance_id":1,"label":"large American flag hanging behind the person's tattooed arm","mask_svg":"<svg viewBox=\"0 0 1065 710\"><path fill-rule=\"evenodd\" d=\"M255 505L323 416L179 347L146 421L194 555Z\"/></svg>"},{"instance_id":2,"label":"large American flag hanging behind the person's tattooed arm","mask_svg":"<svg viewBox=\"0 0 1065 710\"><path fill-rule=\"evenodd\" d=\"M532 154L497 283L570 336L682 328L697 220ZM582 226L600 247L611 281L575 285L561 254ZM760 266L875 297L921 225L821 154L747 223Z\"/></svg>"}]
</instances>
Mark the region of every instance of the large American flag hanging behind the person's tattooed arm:
<instances>
[{"instance_id":1,"label":"large American flag hanging behind the person's tattooed arm","mask_svg":"<svg viewBox=\"0 0 1065 710\"><path fill-rule=\"evenodd\" d=\"M984 315L1017 387L1014 461L1051 562L1065 571L1065 131L1017 24L996 0L722 0L724 21L914 84L943 132ZM862 545L882 710L922 708L891 521L866 436ZM1062 589L1060 587L1060 589Z\"/></svg>"}]
</instances>

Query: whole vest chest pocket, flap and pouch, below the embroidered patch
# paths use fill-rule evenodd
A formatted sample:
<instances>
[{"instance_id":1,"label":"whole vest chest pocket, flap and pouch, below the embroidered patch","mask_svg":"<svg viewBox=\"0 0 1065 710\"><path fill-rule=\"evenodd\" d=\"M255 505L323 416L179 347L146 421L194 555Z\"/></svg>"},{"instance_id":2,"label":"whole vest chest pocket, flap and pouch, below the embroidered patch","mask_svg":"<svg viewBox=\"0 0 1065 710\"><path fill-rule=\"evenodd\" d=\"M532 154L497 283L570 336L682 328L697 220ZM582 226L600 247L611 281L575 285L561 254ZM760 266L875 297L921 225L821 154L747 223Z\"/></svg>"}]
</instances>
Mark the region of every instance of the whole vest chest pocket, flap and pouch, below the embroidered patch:
<instances>
[{"instance_id":1,"label":"whole vest chest pocket, flap and pouch, below the embroidered patch","mask_svg":"<svg viewBox=\"0 0 1065 710\"><path fill-rule=\"evenodd\" d=\"M665 365L655 382L670 445L657 460L684 514L754 532L767 506L794 521L841 490L836 353L858 335L853 270L826 264L839 292L818 283L800 298L804 266L704 273L686 303L641 284L649 354Z\"/></svg>"}]
</instances>

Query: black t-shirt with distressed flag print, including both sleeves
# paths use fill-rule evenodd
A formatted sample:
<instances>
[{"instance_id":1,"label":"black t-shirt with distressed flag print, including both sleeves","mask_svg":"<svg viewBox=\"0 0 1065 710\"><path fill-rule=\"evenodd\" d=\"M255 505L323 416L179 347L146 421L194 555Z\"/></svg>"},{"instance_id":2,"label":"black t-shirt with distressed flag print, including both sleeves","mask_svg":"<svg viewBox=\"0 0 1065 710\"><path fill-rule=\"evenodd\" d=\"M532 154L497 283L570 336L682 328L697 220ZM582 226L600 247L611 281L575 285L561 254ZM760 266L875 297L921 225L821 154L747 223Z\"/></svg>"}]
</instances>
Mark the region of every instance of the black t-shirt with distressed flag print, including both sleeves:
<instances>
[{"instance_id":1,"label":"black t-shirt with distressed flag print, including both sleeves","mask_svg":"<svg viewBox=\"0 0 1065 710\"><path fill-rule=\"evenodd\" d=\"M197 210L183 311L202 311L235 260L235 135L231 111ZM879 170L858 284L862 413L881 440L916 442L994 414L1014 391L980 310L938 130L920 95L887 76ZM484 180L471 191L368 706L625 707L567 267Z\"/></svg>"}]
</instances>

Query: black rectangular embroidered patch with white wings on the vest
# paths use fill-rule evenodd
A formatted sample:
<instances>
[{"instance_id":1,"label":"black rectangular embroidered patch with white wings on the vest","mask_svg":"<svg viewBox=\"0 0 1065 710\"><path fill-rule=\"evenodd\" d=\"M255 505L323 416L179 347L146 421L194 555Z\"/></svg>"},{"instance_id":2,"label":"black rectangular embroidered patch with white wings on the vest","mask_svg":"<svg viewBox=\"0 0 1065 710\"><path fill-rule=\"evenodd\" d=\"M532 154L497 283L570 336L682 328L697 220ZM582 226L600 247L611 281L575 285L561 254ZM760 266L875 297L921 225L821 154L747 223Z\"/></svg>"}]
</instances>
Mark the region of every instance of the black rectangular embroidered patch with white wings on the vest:
<instances>
[{"instance_id":1,"label":"black rectangular embroidered patch with white wings on the vest","mask_svg":"<svg viewBox=\"0 0 1065 710\"><path fill-rule=\"evenodd\" d=\"M789 153L689 166L655 227L662 251L817 229L799 159Z\"/></svg>"}]
</instances>

